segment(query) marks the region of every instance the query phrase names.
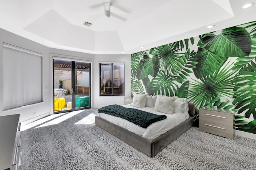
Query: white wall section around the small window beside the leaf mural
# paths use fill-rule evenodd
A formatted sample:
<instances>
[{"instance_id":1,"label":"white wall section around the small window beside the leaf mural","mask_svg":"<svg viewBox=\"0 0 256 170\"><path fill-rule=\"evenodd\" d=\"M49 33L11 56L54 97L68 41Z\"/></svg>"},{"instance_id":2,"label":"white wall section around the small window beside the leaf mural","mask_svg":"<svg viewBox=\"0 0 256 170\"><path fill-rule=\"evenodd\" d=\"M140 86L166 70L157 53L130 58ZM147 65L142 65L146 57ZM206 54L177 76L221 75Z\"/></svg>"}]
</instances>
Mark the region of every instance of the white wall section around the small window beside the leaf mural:
<instances>
[{"instance_id":1,"label":"white wall section around the small window beside the leaf mural","mask_svg":"<svg viewBox=\"0 0 256 170\"><path fill-rule=\"evenodd\" d=\"M131 96L131 55L94 55L94 107L100 108L106 105L124 104L124 96L100 96L100 68L99 61L124 61L124 94Z\"/></svg>"}]
</instances>

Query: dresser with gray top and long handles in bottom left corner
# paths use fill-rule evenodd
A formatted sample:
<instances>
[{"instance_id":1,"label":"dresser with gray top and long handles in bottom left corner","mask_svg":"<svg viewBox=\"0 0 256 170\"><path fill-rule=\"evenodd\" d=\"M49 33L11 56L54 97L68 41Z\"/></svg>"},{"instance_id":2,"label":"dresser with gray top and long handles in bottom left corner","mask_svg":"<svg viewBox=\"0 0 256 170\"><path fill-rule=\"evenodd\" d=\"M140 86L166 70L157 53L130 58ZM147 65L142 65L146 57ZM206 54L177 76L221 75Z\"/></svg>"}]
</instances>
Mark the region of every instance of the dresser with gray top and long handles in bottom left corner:
<instances>
[{"instance_id":1,"label":"dresser with gray top and long handles in bottom left corner","mask_svg":"<svg viewBox=\"0 0 256 170\"><path fill-rule=\"evenodd\" d=\"M0 170L20 168L20 115L0 117Z\"/></svg>"}]
</instances>

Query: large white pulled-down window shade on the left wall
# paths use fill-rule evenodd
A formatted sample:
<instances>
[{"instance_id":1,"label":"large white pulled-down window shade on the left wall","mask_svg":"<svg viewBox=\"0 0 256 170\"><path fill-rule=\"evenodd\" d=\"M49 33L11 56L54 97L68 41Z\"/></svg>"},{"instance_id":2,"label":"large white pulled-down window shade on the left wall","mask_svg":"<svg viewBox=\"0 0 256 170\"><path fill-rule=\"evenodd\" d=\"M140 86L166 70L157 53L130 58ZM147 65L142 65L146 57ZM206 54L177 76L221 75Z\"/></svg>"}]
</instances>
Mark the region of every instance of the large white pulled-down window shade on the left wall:
<instances>
[{"instance_id":1,"label":"large white pulled-down window shade on the left wall","mask_svg":"<svg viewBox=\"0 0 256 170\"><path fill-rule=\"evenodd\" d=\"M4 110L42 102L42 56L3 44Z\"/></svg>"}]
</instances>

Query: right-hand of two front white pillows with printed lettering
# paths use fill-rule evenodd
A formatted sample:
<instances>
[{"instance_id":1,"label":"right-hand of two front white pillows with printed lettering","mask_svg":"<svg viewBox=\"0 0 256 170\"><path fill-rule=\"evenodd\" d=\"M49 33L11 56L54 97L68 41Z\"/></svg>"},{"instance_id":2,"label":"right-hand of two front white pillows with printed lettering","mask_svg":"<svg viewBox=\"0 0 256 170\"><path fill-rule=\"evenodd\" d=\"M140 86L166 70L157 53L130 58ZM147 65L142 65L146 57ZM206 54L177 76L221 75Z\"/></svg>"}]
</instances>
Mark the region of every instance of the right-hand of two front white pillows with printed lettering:
<instances>
[{"instance_id":1,"label":"right-hand of two front white pillows with printed lettering","mask_svg":"<svg viewBox=\"0 0 256 170\"><path fill-rule=\"evenodd\" d=\"M154 107L154 110L158 112L166 113L166 114L172 114L173 102L176 99L177 99L177 96L168 97L168 96L157 95L156 105Z\"/></svg>"}]
</instances>

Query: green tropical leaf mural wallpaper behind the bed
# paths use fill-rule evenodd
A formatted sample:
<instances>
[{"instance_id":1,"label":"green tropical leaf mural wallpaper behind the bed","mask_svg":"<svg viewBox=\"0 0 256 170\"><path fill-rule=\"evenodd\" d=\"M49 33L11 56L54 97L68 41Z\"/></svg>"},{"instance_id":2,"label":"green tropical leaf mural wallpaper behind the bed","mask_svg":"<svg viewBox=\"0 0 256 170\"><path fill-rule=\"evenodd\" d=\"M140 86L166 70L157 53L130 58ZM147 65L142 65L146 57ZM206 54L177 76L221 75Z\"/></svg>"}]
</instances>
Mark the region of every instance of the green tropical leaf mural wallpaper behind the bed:
<instances>
[{"instance_id":1,"label":"green tropical leaf mural wallpaper behind the bed","mask_svg":"<svg viewBox=\"0 0 256 170\"><path fill-rule=\"evenodd\" d=\"M230 109L237 130L256 134L256 21L134 53L131 77L131 95Z\"/></svg>"}]
</instances>

